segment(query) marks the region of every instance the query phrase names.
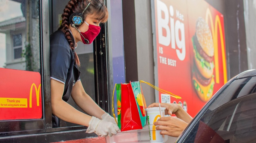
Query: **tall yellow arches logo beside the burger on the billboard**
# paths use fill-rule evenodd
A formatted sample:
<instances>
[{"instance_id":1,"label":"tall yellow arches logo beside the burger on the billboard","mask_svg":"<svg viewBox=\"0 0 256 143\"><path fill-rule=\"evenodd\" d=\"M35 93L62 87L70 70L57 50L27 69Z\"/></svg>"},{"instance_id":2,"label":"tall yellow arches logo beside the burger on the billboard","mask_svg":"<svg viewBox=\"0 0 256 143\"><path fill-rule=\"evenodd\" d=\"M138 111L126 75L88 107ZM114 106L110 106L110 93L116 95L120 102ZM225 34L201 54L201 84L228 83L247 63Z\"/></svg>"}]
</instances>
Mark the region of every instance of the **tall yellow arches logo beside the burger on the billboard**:
<instances>
[{"instance_id":1,"label":"tall yellow arches logo beside the burger on the billboard","mask_svg":"<svg viewBox=\"0 0 256 143\"><path fill-rule=\"evenodd\" d=\"M212 14L209 8L206 10L205 21L208 24L208 19L210 20L210 26L212 31L212 39L214 43L214 63L215 63L215 78L216 83L220 83L220 71L219 71L219 55L218 55L218 27L221 40L221 54L222 54L222 63L223 63L223 78L224 84L227 82L227 69L226 69L226 55L225 55L225 46L224 46L224 36L221 26L221 20L219 15L215 17L215 23L213 24Z\"/></svg>"}]
</instances>

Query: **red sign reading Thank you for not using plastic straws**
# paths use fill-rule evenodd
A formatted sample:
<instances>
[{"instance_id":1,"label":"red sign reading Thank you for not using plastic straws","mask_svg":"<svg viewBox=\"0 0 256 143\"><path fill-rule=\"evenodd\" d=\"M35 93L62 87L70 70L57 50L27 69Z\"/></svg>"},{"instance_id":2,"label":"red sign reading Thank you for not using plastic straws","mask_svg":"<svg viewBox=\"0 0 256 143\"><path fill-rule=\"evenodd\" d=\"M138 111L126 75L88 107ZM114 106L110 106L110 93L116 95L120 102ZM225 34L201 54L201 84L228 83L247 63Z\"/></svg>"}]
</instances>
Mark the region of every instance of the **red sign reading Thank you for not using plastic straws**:
<instances>
[{"instance_id":1,"label":"red sign reading Thank you for not using plastic straws","mask_svg":"<svg viewBox=\"0 0 256 143\"><path fill-rule=\"evenodd\" d=\"M42 118L39 72L0 68L0 120Z\"/></svg>"}]
</instances>

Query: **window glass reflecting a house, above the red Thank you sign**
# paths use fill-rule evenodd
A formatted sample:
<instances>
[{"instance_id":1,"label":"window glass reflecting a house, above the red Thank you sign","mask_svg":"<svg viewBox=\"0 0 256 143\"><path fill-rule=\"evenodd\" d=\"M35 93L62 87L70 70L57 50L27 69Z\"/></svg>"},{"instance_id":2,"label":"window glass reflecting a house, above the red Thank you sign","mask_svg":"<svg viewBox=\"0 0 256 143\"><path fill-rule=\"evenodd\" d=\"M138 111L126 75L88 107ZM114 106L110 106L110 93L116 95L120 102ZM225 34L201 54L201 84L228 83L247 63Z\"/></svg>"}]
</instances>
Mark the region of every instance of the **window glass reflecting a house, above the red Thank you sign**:
<instances>
[{"instance_id":1,"label":"window glass reflecting a house, above the red Thank you sign","mask_svg":"<svg viewBox=\"0 0 256 143\"><path fill-rule=\"evenodd\" d=\"M38 0L0 1L0 68L40 72Z\"/></svg>"}]
</instances>

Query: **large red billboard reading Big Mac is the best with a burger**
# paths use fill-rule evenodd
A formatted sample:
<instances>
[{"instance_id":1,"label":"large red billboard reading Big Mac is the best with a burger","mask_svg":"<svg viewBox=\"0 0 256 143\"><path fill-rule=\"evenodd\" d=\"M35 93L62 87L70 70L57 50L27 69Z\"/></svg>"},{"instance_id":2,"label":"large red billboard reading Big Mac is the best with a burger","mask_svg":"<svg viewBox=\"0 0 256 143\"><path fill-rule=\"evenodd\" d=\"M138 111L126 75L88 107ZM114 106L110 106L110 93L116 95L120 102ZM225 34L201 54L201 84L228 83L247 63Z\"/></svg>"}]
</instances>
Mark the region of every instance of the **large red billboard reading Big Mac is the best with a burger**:
<instances>
[{"instance_id":1,"label":"large red billboard reading Big Mac is the best with a burger","mask_svg":"<svg viewBox=\"0 0 256 143\"><path fill-rule=\"evenodd\" d=\"M154 0L157 81L161 103L192 117L227 82L223 14L204 0Z\"/></svg>"}]
</instances>

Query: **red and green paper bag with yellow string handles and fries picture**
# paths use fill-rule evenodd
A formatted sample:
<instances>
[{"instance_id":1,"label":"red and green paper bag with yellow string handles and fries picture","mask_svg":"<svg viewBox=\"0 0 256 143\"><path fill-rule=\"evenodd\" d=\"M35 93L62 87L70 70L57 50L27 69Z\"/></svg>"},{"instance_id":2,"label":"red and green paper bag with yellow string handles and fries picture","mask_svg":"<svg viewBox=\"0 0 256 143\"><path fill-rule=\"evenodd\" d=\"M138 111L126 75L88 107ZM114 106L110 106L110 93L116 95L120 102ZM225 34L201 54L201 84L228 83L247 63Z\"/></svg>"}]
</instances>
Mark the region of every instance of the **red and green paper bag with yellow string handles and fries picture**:
<instances>
[{"instance_id":1,"label":"red and green paper bag with yellow string handles and fries picture","mask_svg":"<svg viewBox=\"0 0 256 143\"><path fill-rule=\"evenodd\" d=\"M171 92L165 91L144 81L136 81L124 84L115 84L112 97L112 111L114 118L114 92L117 94L117 125L122 131L142 129L146 125L146 102L142 92L141 83L168 94L175 98L181 98Z\"/></svg>"}]
</instances>

